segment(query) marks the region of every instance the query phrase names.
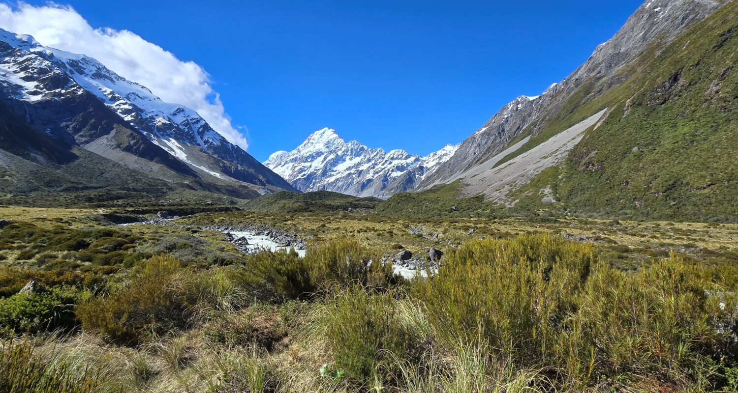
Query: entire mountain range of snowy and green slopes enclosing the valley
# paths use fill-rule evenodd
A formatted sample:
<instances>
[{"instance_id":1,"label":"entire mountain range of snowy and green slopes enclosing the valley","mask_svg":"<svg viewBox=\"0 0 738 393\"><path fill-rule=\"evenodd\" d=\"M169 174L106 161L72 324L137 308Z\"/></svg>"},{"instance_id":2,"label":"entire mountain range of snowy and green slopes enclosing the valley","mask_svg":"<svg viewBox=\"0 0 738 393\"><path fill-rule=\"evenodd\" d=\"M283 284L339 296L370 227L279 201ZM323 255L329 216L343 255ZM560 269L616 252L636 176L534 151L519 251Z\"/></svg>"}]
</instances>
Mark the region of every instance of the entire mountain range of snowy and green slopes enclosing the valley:
<instances>
[{"instance_id":1,"label":"entire mountain range of snowy and green slopes enclosing the valley","mask_svg":"<svg viewBox=\"0 0 738 393\"><path fill-rule=\"evenodd\" d=\"M324 128L263 164L97 60L0 30L0 189L86 201L324 190L407 212L444 189L514 214L734 218L737 15L737 1L645 1L565 80L428 156Z\"/></svg>"}]
</instances>

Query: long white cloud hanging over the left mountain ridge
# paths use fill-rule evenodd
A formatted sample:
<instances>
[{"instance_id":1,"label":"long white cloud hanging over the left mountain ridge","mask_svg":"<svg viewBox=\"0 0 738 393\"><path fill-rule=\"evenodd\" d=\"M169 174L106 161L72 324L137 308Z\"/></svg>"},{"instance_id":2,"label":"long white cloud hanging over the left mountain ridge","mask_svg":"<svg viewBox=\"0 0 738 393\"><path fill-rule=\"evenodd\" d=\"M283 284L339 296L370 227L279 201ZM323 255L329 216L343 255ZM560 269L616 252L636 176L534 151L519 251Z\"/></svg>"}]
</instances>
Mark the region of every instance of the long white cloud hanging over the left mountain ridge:
<instances>
[{"instance_id":1,"label":"long white cloud hanging over the left mountain ridge","mask_svg":"<svg viewBox=\"0 0 738 393\"><path fill-rule=\"evenodd\" d=\"M246 149L246 138L231 125L207 72L193 61L182 61L161 46L128 30L94 29L69 6L34 7L0 4L0 27L32 35L44 46L95 58L108 69L151 89L165 102L197 111L215 131Z\"/></svg>"}]
</instances>

